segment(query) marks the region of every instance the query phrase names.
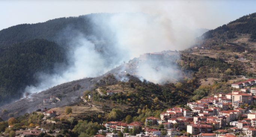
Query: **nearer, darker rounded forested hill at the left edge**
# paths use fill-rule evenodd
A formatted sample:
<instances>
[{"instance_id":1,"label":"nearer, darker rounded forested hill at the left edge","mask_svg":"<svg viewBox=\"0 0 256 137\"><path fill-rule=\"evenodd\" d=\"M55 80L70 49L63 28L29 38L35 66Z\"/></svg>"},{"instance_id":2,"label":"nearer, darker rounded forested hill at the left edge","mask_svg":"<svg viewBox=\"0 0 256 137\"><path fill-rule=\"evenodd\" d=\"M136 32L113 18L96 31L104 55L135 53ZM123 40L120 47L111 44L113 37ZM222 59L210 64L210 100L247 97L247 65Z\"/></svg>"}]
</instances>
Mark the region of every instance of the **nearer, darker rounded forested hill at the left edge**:
<instances>
[{"instance_id":1,"label":"nearer, darker rounded forested hill at the left edge","mask_svg":"<svg viewBox=\"0 0 256 137\"><path fill-rule=\"evenodd\" d=\"M64 49L45 39L0 48L0 104L20 98L25 86L37 83L36 73L51 74L65 61Z\"/></svg>"}]
</instances>

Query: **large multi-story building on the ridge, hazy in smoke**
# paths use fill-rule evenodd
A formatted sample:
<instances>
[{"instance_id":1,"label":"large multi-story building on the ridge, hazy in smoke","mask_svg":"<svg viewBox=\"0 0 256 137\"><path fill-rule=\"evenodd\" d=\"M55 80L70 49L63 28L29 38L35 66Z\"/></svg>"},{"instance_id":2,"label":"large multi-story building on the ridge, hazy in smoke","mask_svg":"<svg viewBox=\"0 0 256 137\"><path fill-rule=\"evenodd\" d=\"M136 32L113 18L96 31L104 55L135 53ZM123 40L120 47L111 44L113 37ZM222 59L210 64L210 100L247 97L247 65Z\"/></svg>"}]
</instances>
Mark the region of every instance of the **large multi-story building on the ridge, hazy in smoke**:
<instances>
[{"instance_id":1,"label":"large multi-story building on the ridge, hazy in smoke","mask_svg":"<svg viewBox=\"0 0 256 137\"><path fill-rule=\"evenodd\" d=\"M140 55L140 61L162 61L164 54L144 53Z\"/></svg>"}]
</instances>

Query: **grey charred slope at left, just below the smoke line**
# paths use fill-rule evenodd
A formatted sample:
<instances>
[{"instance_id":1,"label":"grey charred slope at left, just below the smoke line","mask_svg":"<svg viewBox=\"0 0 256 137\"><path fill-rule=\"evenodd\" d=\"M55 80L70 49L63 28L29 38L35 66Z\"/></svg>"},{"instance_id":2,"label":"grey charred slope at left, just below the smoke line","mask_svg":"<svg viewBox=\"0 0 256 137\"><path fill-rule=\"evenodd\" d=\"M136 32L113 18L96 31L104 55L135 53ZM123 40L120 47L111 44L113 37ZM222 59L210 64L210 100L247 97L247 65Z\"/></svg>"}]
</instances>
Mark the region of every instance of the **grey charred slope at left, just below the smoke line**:
<instances>
[{"instance_id":1,"label":"grey charred slope at left, just below the smoke line","mask_svg":"<svg viewBox=\"0 0 256 137\"><path fill-rule=\"evenodd\" d=\"M100 79L101 77L76 80L52 87L40 93L34 93L26 98L1 106L0 117L7 120L10 115L17 117L25 113L31 113L37 109L62 107L81 102L79 96L85 90L91 90L94 84ZM44 99L49 100L51 96L58 97L60 101L43 103Z\"/></svg>"}]
</instances>

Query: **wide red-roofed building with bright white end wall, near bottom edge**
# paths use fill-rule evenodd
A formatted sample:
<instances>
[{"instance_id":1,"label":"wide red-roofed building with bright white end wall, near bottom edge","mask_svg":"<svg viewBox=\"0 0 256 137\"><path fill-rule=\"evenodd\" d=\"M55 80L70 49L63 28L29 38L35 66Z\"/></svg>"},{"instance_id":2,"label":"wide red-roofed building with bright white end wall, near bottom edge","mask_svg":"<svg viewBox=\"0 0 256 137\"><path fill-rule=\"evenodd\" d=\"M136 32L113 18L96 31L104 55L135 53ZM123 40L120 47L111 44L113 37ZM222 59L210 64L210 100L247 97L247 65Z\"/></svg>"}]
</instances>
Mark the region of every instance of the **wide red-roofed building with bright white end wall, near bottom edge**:
<instances>
[{"instance_id":1,"label":"wide red-roofed building with bright white end wall, near bottom edge","mask_svg":"<svg viewBox=\"0 0 256 137\"><path fill-rule=\"evenodd\" d=\"M200 134L200 133L212 133L213 127L206 124L191 124L187 125L187 132L190 134Z\"/></svg>"}]
</instances>

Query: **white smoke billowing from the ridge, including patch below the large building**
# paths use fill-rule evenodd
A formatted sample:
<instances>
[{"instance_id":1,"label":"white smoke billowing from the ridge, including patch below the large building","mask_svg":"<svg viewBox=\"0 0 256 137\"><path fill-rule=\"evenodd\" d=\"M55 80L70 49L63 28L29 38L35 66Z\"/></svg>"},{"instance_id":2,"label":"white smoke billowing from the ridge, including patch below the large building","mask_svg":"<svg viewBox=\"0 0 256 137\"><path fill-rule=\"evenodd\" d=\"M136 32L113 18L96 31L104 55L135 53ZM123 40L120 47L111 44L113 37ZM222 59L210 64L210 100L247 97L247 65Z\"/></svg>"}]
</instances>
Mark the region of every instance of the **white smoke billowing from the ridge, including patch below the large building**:
<instances>
[{"instance_id":1,"label":"white smoke billowing from the ridge, including patch below the large building","mask_svg":"<svg viewBox=\"0 0 256 137\"><path fill-rule=\"evenodd\" d=\"M184 20L174 20L168 14L116 13L90 15L94 34L86 36L77 31L71 41L68 58L72 65L63 73L37 74L40 83L27 86L34 93L61 83L84 77L95 77L146 52L183 50L194 44L195 28ZM187 20L187 19L186 19ZM70 33L68 31L64 33ZM74 31L74 30L73 30ZM172 64L160 66L156 71L150 65L139 67L138 75L151 82L161 83L165 77L178 79L179 73ZM166 81L166 80L165 80Z\"/></svg>"}]
</instances>

